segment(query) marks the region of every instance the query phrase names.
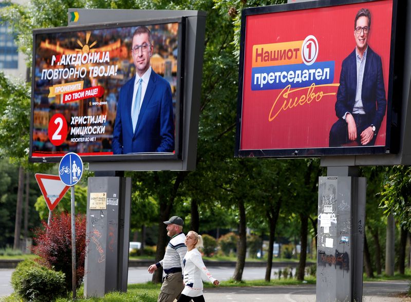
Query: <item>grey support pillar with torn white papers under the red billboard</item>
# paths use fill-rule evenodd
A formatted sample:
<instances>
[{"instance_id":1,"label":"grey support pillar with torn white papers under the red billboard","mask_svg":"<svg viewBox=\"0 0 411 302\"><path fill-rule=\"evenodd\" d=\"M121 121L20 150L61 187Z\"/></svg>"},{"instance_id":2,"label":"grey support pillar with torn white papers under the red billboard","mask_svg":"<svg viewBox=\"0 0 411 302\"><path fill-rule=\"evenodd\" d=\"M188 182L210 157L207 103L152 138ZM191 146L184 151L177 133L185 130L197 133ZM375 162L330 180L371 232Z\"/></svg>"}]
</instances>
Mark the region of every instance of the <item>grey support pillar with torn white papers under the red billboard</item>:
<instances>
[{"instance_id":1,"label":"grey support pillar with torn white papers under the red billboard","mask_svg":"<svg viewBox=\"0 0 411 302\"><path fill-rule=\"evenodd\" d=\"M319 178L316 301L361 301L366 178L328 166Z\"/></svg>"}]
</instances>

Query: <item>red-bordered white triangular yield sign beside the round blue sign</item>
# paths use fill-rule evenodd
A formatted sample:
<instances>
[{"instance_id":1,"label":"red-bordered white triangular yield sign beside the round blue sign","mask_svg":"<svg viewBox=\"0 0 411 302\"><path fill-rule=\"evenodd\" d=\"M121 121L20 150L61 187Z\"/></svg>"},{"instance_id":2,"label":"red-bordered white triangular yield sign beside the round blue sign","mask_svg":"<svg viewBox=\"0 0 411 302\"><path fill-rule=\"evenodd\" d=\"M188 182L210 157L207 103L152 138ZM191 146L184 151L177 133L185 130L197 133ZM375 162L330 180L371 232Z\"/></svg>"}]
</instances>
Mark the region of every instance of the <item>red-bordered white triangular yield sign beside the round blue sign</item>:
<instances>
[{"instance_id":1,"label":"red-bordered white triangular yield sign beside the round blue sign","mask_svg":"<svg viewBox=\"0 0 411 302\"><path fill-rule=\"evenodd\" d=\"M48 209L54 210L54 207L63 198L64 194L69 189L68 185L65 185L59 176L48 174L35 174L35 179L40 186L40 190L43 193L43 197L46 200Z\"/></svg>"}]
</instances>

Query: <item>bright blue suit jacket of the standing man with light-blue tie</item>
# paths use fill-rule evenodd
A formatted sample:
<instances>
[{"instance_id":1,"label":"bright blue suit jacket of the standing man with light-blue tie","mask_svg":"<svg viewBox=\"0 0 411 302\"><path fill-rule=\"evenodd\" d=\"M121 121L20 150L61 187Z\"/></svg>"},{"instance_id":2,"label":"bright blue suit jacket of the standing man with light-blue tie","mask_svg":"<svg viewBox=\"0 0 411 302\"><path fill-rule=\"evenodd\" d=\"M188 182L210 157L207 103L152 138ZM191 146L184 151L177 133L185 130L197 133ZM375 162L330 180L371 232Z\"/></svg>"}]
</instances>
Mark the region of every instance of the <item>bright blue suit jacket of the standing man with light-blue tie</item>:
<instances>
[{"instance_id":1,"label":"bright blue suit jacket of the standing man with light-blue tie","mask_svg":"<svg viewBox=\"0 0 411 302\"><path fill-rule=\"evenodd\" d=\"M113 153L173 152L174 115L169 82L152 70L133 131L131 112L135 77L120 89L111 143Z\"/></svg>"}]
</instances>

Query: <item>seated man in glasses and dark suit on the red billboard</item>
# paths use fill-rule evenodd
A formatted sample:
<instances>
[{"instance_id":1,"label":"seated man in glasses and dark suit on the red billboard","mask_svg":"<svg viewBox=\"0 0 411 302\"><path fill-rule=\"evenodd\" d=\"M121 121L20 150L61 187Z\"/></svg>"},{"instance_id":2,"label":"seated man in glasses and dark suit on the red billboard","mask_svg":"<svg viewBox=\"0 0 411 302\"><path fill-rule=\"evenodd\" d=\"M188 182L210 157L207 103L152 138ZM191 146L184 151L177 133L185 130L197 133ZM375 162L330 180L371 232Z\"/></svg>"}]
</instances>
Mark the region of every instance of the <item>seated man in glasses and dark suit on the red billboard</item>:
<instances>
[{"instance_id":1,"label":"seated man in glasses and dark suit on the red billboard","mask_svg":"<svg viewBox=\"0 0 411 302\"><path fill-rule=\"evenodd\" d=\"M341 67L335 102L339 119L330 130L330 147L353 141L363 146L374 145L385 115L387 101L381 57L368 46L370 26L371 13L360 9L354 20L356 49Z\"/></svg>"}]
</instances>

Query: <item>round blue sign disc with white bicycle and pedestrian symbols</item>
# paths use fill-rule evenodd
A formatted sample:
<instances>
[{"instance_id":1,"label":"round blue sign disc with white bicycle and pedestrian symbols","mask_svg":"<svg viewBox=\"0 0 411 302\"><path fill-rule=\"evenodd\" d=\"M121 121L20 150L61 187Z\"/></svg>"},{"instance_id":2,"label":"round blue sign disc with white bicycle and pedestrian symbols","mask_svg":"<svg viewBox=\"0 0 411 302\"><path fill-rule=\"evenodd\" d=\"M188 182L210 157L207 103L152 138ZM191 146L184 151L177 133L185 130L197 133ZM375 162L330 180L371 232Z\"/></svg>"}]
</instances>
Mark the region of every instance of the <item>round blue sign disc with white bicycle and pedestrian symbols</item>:
<instances>
[{"instance_id":1,"label":"round blue sign disc with white bicycle and pedestrian symbols","mask_svg":"<svg viewBox=\"0 0 411 302\"><path fill-rule=\"evenodd\" d=\"M62 182L72 186L79 182L83 175L83 161L76 153L67 153L60 161L59 176Z\"/></svg>"}]
</instances>

